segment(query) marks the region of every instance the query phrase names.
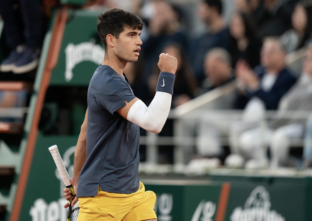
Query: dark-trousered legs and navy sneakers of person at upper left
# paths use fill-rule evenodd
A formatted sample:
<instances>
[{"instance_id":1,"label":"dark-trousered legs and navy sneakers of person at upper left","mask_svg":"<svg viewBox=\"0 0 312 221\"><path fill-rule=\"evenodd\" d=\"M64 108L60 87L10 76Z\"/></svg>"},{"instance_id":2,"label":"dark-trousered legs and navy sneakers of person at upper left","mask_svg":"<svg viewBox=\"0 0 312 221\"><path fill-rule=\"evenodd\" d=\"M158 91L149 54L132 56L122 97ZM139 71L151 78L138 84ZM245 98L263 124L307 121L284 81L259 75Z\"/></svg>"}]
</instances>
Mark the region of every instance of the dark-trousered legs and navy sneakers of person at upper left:
<instances>
[{"instance_id":1,"label":"dark-trousered legs and navy sneakers of person at upper left","mask_svg":"<svg viewBox=\"0 0 312 221\"><path fill-rule=\"evenodd\" d=\"M22 74L35 69L45 34L41 1L0 1L4 34L11 53L0 65L0 71Z\"/></svg>"}]
</instances>

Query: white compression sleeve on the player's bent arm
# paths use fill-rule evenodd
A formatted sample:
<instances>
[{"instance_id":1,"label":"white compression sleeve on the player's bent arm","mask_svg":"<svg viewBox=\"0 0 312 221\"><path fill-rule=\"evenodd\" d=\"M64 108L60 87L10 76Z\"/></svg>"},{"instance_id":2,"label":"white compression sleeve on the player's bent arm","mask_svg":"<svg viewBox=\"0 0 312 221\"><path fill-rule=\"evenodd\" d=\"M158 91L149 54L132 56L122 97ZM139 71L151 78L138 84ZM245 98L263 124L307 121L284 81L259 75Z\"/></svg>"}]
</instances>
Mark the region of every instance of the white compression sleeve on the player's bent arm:
<instances>
[{"instance_id":1,"label":"white compression sleeve on the player's bent arm","mask_svg":"<svg viewBox=\"0 0 312 221\"><path fill-rule=\"evenodd\" d=\"M129 109L127 120L149 132L159 133L168 118L171 98L171 94L157 91L149 107L137 100Z\"/></svg>"}]
</instances>

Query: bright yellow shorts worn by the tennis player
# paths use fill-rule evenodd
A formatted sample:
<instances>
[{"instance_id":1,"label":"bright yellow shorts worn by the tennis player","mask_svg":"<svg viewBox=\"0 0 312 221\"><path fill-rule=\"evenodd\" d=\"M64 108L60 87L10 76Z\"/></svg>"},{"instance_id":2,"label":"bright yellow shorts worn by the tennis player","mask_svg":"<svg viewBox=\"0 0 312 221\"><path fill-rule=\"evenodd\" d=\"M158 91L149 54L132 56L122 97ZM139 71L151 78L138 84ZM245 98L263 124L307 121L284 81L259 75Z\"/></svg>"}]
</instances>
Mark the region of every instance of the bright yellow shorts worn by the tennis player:
<instances>
[{"instance_id":1,"label":"bright yellow shorts worn by the tennis player","mask_svg":"<svg viewBox=\"0 0 312 221\"><path fill-rule=\"evenodd\" d=\"M98 190L94 197L79 197L78 221L141 221L157 219L154 205L156 195L145 191L140 182L139 190L131 194L110 193Z\"/></svg>"}]
</instances>

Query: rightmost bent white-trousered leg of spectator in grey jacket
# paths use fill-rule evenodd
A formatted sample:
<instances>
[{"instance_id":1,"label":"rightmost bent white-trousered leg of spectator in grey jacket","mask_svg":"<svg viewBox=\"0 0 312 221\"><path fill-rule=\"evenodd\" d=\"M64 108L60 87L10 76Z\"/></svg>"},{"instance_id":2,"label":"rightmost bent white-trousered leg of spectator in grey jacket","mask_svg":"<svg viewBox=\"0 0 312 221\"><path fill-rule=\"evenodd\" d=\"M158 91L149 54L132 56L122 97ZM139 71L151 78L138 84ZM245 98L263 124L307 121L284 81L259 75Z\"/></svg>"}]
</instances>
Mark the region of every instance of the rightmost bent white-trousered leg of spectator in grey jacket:
<instances>
[{"instance_id":1,"label":"rightmost bent white-trousered leg of spectator in grey jacket","mask_svg":"<svg viewBox=\"0 0 312 221\"><path fill-rule=\"evenodd\" d=\"M303 125L290 124L275 130L270 144L271 167L286 166L289 160L290 139L303 136Z\"/></svg>"}]
</instances>

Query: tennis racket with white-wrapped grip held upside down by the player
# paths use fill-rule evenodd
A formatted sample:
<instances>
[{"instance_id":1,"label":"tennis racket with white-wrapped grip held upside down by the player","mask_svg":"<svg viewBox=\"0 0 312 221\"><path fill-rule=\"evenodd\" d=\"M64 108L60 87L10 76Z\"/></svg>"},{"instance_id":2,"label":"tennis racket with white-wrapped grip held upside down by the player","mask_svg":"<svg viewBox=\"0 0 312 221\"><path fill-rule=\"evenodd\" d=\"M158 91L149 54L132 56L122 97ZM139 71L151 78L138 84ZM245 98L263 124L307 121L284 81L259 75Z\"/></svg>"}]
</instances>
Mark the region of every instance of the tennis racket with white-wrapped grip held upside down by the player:
<instances>
[{"instance_id":1,"label":"tennis racket with white-wrapped grip held upside down by the player","mask_svg":"<svg viewBox=\"0 0 312 221\"><path fill-rule=\"evenodd\" d=\"M56 145L53 145L51 147L49 147L49 151L54 159L54 162L56 164L57 170L59 171L61 178L64 182L64 184L66 185L67 188L69 188L72 192L72 196L76 196L75 192L74 192L74 188L71 185L71 180L69 178L69 175L67 173L66 167L64 165L64 162L62 161L61 155L57 149ZM68 216L67 216L67 221L75 221L78 218L78 214L79 214L79 207L76 208L72 208L71 206L71 202L72 202L72 197L68 202L69 205L69 212L68 212Z\"/></svg>"}]
</instances>

